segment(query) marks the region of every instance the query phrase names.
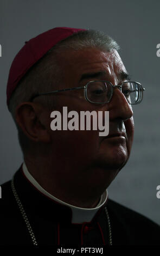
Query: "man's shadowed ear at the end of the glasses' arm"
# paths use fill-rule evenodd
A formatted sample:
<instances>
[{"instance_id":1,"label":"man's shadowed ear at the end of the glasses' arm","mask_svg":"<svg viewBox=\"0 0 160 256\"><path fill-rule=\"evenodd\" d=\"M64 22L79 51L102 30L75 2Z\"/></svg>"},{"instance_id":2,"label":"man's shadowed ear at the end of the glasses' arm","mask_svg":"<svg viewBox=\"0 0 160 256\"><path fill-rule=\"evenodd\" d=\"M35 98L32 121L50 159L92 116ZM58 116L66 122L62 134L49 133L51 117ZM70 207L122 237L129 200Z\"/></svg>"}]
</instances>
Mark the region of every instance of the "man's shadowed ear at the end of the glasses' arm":
<instances>
[{"instance_id":1,"label":"man's shadowed ear at the end of the glasses' arm","mask_svg":"<svg viewBox=\"0 0 160 256\"><path fill-rule=\"evenodd\" d=\"M47 118L44 116L43 106L38 103L23 102L16 108L16 122L31 141L50 142Z\"/></svg>"}]
</instances>

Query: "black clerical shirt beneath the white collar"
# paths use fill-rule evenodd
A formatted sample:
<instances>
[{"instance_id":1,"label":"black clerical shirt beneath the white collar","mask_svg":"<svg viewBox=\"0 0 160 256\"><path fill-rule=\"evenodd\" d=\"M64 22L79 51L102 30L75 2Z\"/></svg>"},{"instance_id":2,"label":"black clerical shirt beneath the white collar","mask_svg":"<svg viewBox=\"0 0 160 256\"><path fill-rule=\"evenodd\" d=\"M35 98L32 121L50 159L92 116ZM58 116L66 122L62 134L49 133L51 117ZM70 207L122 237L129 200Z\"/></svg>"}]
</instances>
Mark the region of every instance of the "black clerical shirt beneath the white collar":
<instances>
[{"instance_id":1,"label":"black clerical shirt beneath the white collar","mask_svg":"<svg viewBox=\"0 0 160 256\"><path fill-rule=\"evenodd\" d=\"M14 185L38 245L102 246L109 244L110 216L112 245L160 245L160 227L143 215L108 199L91 222L72 223L72 210L44 196L22 173ZM0 245L33 245L28 227L18 208L11 181L2 185L0 199Z\"/></svg>"}]
</instances>

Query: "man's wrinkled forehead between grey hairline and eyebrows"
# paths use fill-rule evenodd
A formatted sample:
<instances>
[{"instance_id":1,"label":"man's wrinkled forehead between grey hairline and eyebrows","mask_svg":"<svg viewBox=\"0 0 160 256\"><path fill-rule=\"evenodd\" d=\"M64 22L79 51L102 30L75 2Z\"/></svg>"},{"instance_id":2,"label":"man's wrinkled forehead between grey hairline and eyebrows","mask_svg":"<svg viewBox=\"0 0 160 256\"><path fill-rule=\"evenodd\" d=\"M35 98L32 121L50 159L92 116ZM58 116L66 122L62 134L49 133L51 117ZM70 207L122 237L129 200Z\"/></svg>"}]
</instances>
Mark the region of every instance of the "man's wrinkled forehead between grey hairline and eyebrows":
<instances>
[{"instance_id":1,"label":"man's wrinkled forehead between grey hairline and eyebrows","mask_svg":"<svg viewBox=\"0 0 160 256\"><path fill-rule=\"evenodd\" d=\"M57 57L65 80L80 80L85 73L104 71L108 79L126 72L125 66L116 50L105 52L97 48L65 50Z\"/></svg>"}]
</instances>

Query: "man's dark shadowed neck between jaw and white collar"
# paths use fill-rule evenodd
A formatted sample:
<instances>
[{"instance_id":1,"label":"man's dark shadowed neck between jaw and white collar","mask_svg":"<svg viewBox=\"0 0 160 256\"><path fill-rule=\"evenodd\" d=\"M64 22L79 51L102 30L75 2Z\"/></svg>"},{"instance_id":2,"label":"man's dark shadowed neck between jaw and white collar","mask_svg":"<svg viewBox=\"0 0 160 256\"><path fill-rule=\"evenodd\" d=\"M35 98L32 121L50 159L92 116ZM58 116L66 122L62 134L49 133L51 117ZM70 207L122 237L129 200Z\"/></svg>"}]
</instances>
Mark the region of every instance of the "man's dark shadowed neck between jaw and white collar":
<instances>
[{"instance_id":1,"label":"man's dark shadowed neck between jaw and white collar","mask_svg":"<svg viewBox=\"0 0 160 256\"><path fill-rule=\"evenodd\" d=\"M78 167L66 167L65 163L46 164L48 161L36 161L34 159L24 158L25 164L29 173L44 188L48 193L57 199L62 200L68 204L80 208L95 208L97 206L101 195L106 190L105 186L101 186L104 177L93 177L91 179L91 170L87 175L87 170ZM92 170L94 173L94 170ZM99 184L98 184L99 183Z\"/></svg>"}]
</instances>

